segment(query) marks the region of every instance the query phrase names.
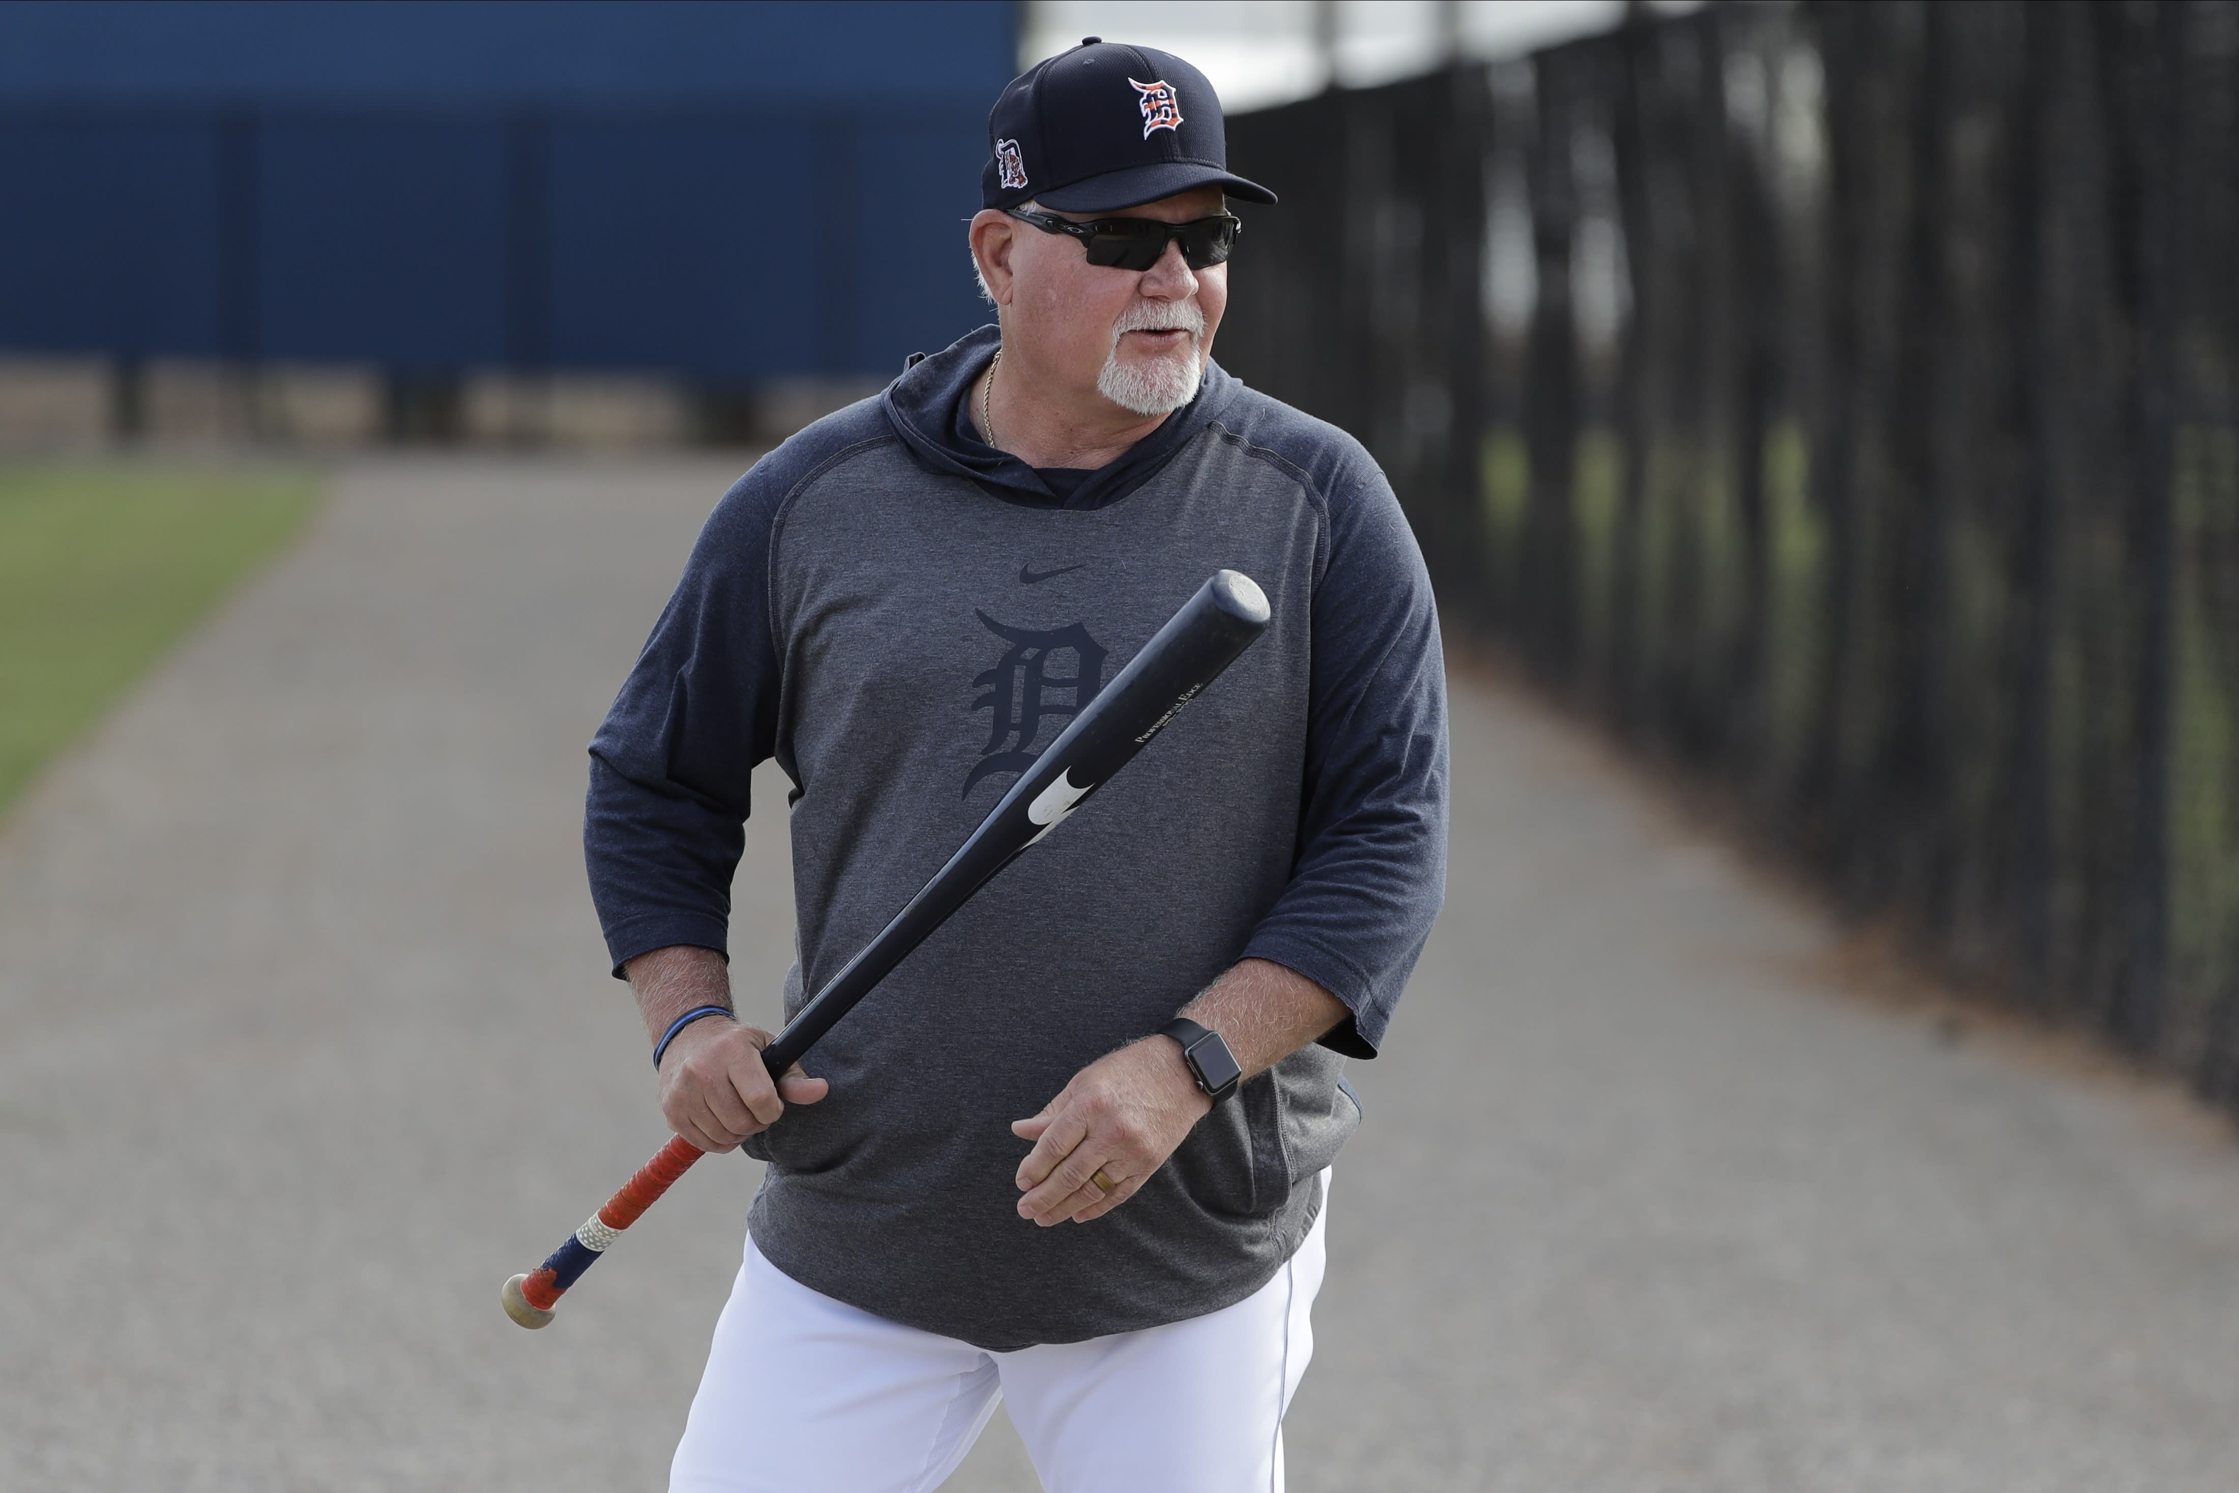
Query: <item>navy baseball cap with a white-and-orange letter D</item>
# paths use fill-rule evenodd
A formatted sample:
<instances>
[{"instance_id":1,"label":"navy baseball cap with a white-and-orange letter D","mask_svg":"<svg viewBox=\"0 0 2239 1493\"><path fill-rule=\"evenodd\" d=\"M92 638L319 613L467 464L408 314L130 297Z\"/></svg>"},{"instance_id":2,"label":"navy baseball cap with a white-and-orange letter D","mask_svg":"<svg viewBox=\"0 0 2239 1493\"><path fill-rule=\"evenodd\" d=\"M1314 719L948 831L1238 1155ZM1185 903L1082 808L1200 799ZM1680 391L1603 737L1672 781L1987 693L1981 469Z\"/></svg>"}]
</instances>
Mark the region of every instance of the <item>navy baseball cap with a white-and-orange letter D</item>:
<instances>
[{"instance_id":1,"label":"navy baseball cap with a white-and-orange letter D","mask_svg":"<svg viewBox=\"0 0 2239 1493\"><path fill-rule=\"evenodd\" d=\"M1229 172L1220 98L1171 51L1084 36L1012 78L987 114L983 206L1034 199L1061 213L1111 213L1196 186L1274 201L1258 181Z\"/></svg>"}]
</instances>

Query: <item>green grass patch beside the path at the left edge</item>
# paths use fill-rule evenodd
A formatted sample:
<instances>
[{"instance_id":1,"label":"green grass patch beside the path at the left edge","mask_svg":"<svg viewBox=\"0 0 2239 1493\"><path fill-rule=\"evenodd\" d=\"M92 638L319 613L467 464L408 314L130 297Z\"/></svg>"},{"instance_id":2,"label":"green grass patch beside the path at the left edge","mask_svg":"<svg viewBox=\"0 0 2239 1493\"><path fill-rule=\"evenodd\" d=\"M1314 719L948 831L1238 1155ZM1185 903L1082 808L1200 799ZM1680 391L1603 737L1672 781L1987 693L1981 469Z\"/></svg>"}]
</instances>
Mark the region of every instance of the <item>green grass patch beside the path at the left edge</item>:
<instances>
[{"instance_id":1,"label":"green grass patch beside the path at the left edge","mask_svg":"<svg viewBox=\"0 0 2239 1493\"><path fill-rule=\"evenodd\" d=\"M316 499L307 475L0 466L0 813Z\"/></svg>"}]
</instances>

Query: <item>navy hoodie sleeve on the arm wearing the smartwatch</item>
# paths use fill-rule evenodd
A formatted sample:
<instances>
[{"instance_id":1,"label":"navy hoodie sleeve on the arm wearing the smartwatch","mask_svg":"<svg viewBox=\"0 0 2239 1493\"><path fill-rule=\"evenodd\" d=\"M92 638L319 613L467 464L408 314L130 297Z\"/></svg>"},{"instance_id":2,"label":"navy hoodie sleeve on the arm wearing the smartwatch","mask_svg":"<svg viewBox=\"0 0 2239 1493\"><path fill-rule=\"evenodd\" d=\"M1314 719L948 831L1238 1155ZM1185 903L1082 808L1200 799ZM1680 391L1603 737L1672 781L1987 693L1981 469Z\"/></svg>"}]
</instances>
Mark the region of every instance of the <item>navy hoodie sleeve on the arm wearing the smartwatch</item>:
<instances>
[{"instance_id":1,"label":"navy hoodie sleeve on the arm wearing the smartwatch","mask_svg":"<svg viewBox=\"0 0 2239 1493\"><path fill-rule=\"evenodd\" d=\"M1352 1016L1321 1039L1375 1057L1446 893L1446 672L1422 551L1350 439L1303 463L1330 506L1314 586L1299 862L1245 956L1325 987Z\"/></svg>"}]
</instances>

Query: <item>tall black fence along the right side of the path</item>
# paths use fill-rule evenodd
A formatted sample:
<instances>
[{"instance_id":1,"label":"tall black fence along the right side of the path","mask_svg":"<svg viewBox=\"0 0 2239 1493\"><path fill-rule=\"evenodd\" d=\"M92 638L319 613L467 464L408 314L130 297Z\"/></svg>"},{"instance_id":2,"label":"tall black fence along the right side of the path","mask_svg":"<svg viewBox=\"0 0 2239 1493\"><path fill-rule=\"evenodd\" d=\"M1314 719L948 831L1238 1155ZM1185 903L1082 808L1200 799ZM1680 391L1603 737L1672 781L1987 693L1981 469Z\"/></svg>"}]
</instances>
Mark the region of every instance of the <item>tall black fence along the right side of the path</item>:
<instances>
[{"instance_id":1,"label":"tall black fence along the right side of the path","mask_svg":"<svg viewBox=\"0 0 2239 1493\"><path fill-rule=\"evenodd\" d=\"M1715 4L1229 123L1449 627L2239 1106L2239 2Z\"/></svg>"}]
</instances>

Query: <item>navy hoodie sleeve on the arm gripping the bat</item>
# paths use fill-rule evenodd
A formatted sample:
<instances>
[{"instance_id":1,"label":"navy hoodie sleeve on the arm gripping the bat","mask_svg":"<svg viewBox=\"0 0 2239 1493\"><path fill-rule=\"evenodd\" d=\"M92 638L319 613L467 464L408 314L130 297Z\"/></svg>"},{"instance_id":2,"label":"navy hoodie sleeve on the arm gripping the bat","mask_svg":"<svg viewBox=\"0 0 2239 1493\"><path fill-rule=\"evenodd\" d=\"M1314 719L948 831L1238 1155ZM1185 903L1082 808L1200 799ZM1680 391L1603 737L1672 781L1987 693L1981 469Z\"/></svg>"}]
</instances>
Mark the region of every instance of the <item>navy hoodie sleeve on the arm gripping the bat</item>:
<instances>
[{"instance_id":1,"label":"navy hoodie sleeve on the arm gripping the bat","mask_svg":"<svg viewBox=\"0 0 2239 1493\"><path fill-rule=\"evenodd\" d=\"M777 741L770 528L797 466L779 448L723 495L591 739L582 846L618 976L669 945L728 954L748 774Z\"/></svg>"}]
</instances>

